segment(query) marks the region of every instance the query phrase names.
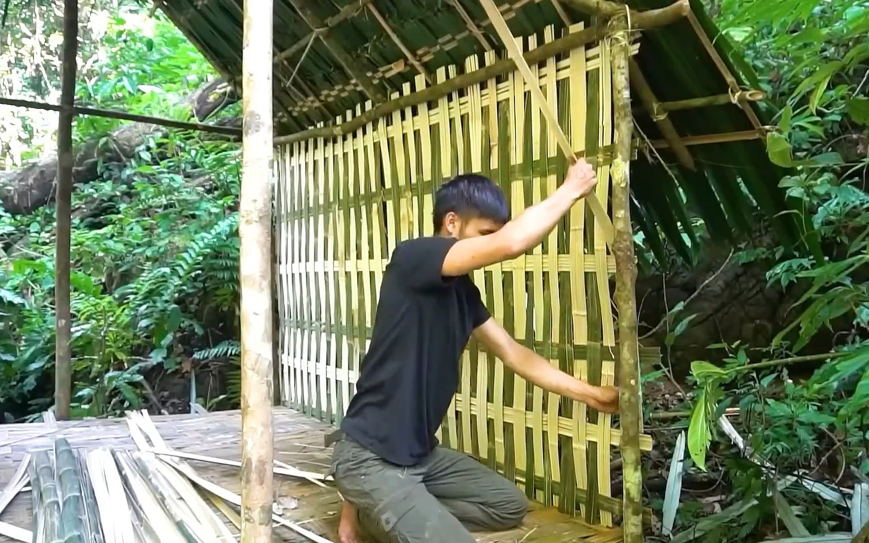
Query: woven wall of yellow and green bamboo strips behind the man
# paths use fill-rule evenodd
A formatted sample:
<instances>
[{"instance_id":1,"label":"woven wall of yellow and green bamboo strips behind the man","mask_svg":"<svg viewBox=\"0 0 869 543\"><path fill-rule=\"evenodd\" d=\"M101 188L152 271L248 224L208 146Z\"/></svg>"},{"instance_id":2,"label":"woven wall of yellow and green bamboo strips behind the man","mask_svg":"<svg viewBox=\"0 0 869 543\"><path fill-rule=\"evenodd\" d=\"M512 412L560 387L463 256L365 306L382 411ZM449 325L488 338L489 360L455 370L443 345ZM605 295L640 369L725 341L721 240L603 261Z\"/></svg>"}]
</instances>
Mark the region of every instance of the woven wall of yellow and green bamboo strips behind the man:
<instances>
[{"instance_id":1,"label":"woven wall of yellow and green bamboo strips behind the man","mask_svg":"<svg viewBox=\"0 0 869 543\"><path fill-rule=\"evenodd\" d=\"M554 39L553 30L545 36ZM521 42L525 50L538 44L533 36ZM471 57L461 70L494 60L492 53ZM532 68L574 149L610 154L607 45ZM436 81L459 70L438 70ZM401 92L425 85L420 76ZM401 240L433 234L432 195L442 182L460 172L488 175L501 184L515 216L551 194L566 169L518 74L396 112L351 135L278 149L283 401L323 420L341 420L389 255ZM605 206L608 170L604 158L597 195ZM518 341L581 379L613 384L613 272L592 215L575 206L540 247L479 270L473 279L494 318ZM656 356L641 353L649 362ZM461 367L461 388L441 441L495 467L535 500L611 525L612 513L620 510L620 500L610 497L610 457L620 439L611 415L545 393L473 342ZM642 447L651 448L648 436Z\"/></svg>"}]
</instances>

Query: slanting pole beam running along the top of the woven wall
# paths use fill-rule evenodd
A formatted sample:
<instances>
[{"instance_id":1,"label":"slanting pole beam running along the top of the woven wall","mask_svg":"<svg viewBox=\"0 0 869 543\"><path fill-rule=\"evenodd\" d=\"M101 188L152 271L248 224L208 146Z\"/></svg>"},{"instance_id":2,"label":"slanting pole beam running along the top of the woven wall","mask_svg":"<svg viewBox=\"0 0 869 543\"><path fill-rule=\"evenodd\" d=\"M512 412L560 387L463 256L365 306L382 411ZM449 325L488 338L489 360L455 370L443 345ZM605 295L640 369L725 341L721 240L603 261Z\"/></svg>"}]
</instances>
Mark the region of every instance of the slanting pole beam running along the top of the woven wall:
<instances>
[{"instance_id":1,"label":"slanting pole beam running along the top of the woven wall","mask_svg":"<svg viewBox=\"0 0 869 543\"><path fill-rule=\"evenodd\" d=\"M605 36L606 30L600 26L593 26L580 32L573 32L567 36L560 37L549 43L544 43L540 47L530 50L523 57L529 64L540 63L550 56L558 55L565 51L569 51L584 45L600 40ZM372 109L368 109L360 116L355 116L347 123L336 124L333 126L323 126L314 129L302 130L295 134L275 137L275 144L302 142L314 137L336 137L348 134L355 129L362 128L366 124L379 119L381 116L387 116L390 113L399 109L409 108L419 103L437 100L442 96L447 96L450 92L458 89L464 89L476 83L482 83L496 76L509 73L516 70L516 63L512 60L504 59L495 63L489 64L480 70L474 70L461 76L455 76L443 83L432 85L427 89L422 89L406 96L400 96Z\"/></svg>"}]
</instances>

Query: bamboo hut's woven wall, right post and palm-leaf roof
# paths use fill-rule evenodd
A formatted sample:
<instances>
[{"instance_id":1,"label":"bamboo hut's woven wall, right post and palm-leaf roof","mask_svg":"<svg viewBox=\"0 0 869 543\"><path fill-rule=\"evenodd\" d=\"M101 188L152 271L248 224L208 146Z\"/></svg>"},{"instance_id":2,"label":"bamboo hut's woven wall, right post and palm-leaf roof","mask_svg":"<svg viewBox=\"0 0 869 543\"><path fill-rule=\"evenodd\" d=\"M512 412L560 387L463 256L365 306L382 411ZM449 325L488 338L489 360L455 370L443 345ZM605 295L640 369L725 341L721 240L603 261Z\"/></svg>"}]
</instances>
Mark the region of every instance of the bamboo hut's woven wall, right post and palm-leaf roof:
<instances>
[{"instance_id":1,"label":"bamboo hut's woven wall, right post and palm-leaf roof","mask_svg":"<svg viewBox=\"0 0 869 543\"><path fill-rule=\"evenodd\" d=\"M237 79L239 3L159 4ZM766 158L771 112L751 70L699 0L274 7L280 401L340 422L389 255L433 233L441 182L488 175L517 214L554 190L569 156L585 156L600 180L594 205L474 282L518 340L582 379L618 383L620 420L545 394L472 343L440 438L529 498L590 524L623 520L626 540L639 540L639 449L652 441L638 362L658 353L636 339L634 228L661 262L666 246L691 260L691 215L727 238L760 208L784 239L799 238L792 215L779 215L783 172ZM623 500L612 494L619 446Z\"/></svg>"}]
</instances>

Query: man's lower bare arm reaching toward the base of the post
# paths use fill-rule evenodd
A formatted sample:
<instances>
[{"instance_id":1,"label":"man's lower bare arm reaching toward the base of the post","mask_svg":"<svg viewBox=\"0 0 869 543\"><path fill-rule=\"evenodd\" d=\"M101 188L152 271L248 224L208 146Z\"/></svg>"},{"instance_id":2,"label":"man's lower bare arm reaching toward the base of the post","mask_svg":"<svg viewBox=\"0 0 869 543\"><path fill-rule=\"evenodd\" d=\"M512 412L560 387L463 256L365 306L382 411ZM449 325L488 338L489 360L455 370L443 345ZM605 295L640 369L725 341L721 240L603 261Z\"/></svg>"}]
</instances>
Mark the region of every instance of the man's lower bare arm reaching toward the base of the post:
<instances>
[{"instance_id":1,"label":"man's lower bare arm reaching toward the base of the post","mask_svg":"<svg viewBox=\"0 0 869 543\"><path fill-rule=\"evenodd\" d=\"M619 410L619 391L615 387L596 387L555 368L539 354L517 343L507 330L490 318L474 330L480 341L516 374L549 392L581 401L605 413Z\"/></svg>"}]
</instances>

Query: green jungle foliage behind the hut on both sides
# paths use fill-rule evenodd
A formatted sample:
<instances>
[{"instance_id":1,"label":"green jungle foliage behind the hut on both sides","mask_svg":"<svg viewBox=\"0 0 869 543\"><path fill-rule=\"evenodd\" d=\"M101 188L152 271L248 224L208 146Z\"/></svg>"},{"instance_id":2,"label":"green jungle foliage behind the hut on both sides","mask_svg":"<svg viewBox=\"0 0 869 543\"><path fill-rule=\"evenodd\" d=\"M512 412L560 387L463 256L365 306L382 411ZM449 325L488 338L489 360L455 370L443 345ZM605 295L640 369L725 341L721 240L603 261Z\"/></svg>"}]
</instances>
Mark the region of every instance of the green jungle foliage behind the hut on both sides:
<instances>
[{"instance_id":1,"label":"green jungle foliage behind the hut on both sides","mask_svg":"<svg viewBox=\"0 0 869 543\"><path fill-rule=\"evenodd\" d=\"M706 6L777 111L769 155L788 168L779 185L802 202L793 213L819 233L823 259L779 244L760 216L735 247L702 236L692 262L674 251L654 262L637 237L649 263L640 334L662 352L643 368L650 535L674 507L664 498L680 434L674 532L706 517L719 519L706 541L776 537L782 497L810 533L848 531L842 489L869 483L869 3ZM240 125L237 96L159 11L132 0L80 0L80 11L77 103ZM57 2L6 2L0 96L58 102L61 20ZM56 113L0 106L0 125L3 423L53 401ZM84 116L74 138L74 416L237 407L239 143ZM720 430L725 414L745 451ZM779 493L788 475L826 490Z\"/></svg>"}]
</instances>

